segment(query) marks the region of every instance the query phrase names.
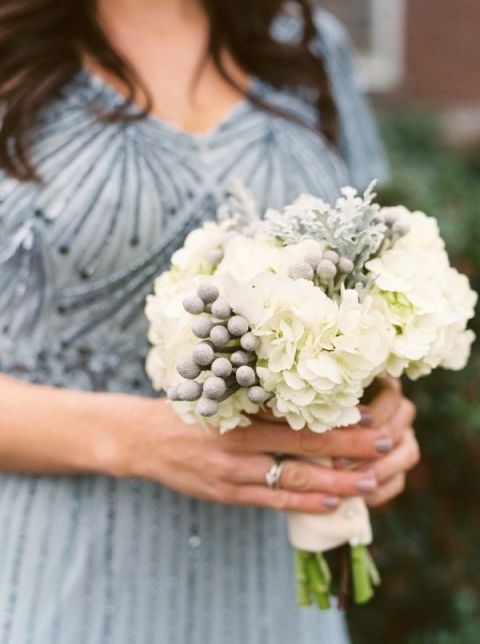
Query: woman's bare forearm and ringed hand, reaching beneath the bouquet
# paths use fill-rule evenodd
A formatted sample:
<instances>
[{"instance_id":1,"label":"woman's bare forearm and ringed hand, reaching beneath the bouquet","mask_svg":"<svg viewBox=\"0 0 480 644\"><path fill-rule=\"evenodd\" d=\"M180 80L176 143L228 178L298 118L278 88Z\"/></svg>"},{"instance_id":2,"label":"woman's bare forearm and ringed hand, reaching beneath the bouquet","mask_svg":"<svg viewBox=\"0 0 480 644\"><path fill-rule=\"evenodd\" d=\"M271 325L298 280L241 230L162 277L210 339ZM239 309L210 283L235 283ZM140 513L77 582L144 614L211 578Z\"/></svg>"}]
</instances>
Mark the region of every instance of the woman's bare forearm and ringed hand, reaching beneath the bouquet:
<instances>
[{"instance_id":1,"label":"woman's bare forearm and ringed hand, reaching beneath the bouquet","mask_svg":"<svg viewBox=\"0 0 480 644\"><path fill-rule=\"evenodd\" d=\"M186 425L165 400L55 389L0 376L0 470L16 473L96 472L157 481L197 498L304 512L329 512L342 496L371 495L374 463L397 453L411 413L395 387L373 401L373 426L314 434L255 420L226 435ZM368 471L338 471L301 460L284 468L282 489L265 474L272 453L368 460ZM401 456L401 455L400 455ZM410 459L410 460L409 460ZM413 464L387 463L389 477ZM379 471L379 474L382 472ZM368 483L367 483L368 482Z\"/></svg>"}]
</instances>

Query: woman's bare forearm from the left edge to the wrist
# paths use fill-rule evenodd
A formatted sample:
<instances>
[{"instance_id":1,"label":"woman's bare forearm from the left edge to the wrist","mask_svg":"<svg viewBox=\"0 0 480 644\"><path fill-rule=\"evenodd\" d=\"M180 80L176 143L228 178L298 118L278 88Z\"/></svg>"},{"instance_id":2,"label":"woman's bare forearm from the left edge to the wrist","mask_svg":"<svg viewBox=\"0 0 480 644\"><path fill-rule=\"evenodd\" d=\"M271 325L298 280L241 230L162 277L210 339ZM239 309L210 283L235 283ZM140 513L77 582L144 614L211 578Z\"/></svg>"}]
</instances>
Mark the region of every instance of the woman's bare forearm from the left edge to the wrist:
<instances>
[{"instance_id":1,"label":"woman's bare forearm from the left edge to the wrist","mask_svg":"<svg viewBox=\"0 0 480 644\"><path fill-rule=\"evenodd\" d=\"M107 472L114 429L134 422L140 398L34 385L0 374L0 470Z\"/></svg>"}]
</instances>

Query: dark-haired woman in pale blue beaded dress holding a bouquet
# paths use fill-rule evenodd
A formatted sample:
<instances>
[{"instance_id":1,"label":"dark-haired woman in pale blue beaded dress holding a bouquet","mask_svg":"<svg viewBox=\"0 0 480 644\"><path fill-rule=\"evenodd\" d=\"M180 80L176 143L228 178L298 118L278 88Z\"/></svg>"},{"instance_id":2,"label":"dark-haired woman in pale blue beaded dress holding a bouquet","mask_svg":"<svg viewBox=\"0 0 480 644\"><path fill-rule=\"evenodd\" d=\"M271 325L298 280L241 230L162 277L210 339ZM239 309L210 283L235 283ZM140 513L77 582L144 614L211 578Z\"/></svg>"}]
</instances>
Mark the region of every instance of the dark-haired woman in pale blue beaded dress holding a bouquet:
<instances>
[{"instance_id":1,"label":"dark-haired woman in pale blue beaded dress holding a bouquet","mask_svg":"<svg viewBox=\"0 0 480 644\"><path fill-rule=\"evenodd\" d=\"M233 179L264 208L383 172L343 32L304 1L5 0L0 51L0 641L347 641L296 608L278 510L400 493L398 385L362 428L218 437L143 363L145 294ZM279 451L359 467L270 489Z\"/></svg>"}]
</instances>

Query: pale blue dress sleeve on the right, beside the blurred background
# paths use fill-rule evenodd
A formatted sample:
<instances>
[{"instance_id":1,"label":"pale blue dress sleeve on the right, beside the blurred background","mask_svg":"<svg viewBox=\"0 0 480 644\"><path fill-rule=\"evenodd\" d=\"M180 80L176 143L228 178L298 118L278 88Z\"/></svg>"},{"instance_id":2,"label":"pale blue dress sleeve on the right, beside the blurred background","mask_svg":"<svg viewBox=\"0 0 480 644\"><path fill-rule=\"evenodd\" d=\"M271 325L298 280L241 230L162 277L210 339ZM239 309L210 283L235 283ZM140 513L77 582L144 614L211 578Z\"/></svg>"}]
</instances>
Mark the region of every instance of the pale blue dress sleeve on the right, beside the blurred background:
<instances>
[{"instance_id":1,"label":"pale blue dress sleeve on the right, beside the blurred background","mask_svg":"<svg viewBox=\"0 0 480 644\"><path fill-rule=\"evenodd\" d=\"M314 16L318 38L314 53L327 66L338 109L340 151L352 185L359 190L373 180L389 178L388 163L377 125L355 69L349 36L330 13L318 10Z\"/></svg>"}]
</instances>

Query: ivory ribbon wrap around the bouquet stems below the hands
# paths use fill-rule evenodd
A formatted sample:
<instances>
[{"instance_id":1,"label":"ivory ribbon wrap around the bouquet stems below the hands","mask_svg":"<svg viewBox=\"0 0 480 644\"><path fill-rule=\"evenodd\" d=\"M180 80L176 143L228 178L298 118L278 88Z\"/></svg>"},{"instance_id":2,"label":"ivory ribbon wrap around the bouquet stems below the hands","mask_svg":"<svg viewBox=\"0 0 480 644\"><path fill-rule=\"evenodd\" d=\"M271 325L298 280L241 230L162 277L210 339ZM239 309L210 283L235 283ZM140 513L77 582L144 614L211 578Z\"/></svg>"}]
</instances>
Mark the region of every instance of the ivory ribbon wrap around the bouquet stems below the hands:
<instances>
[{"instance_id":1,"label":"ivory ribbon wrap around the bouquet stems below the hands","mask_svg":"<svg viewBox=\"0 0 480 644\"><path fill-rule=\"evenodd\" d=\"M315 462L332 466L330 459ZM345 499L335 512L328 514L288 513L290 543L307 552L325 552L345 543L368 546L372 528L365 501L360 497Z\"/></svg>"}]
</instances>

